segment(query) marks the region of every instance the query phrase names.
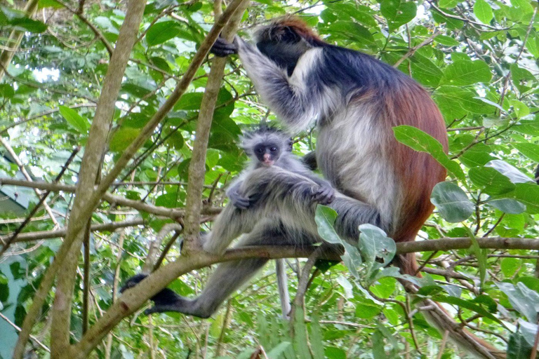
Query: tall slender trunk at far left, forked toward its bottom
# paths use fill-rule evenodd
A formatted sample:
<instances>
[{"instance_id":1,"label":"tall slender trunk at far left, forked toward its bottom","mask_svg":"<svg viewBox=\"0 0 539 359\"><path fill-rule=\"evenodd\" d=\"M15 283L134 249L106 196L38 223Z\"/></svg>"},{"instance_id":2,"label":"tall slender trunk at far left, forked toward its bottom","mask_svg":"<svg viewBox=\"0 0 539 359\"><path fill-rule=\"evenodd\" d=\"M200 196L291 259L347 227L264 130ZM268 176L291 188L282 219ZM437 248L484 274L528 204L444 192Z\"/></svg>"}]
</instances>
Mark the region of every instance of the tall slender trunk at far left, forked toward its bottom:
<instances>
[{"instance_id":1,"label":"tall slender trunk at far left, forked toward its bottom","mask_svg":"<svg viewBox=\"0 0 539 359\"><path fill-rule=\"evenodd\" d=\"M34 302L27 312L15 346L13 353L15 359L22 358L24 354L29 333L60 266L63 270L58 278L53 305L51 355L57 357L58 355L69 355L69 321L76 266L82 243L81 229L88 222L94 209L94 206L90 206L88 203L93 195L93 186L100 170L102 155L105 152L107 134L121 87L121 79L127 66L131 48L135 43L144 8L145 1L142 0L131 0L128 4L126 18L119 32L116 49L107 69L98 107L95 109L95 116L88 135L65 241L58 250L55 261L48 267L43 280L41 280L39 290L34 295Z\"/></svg>"}]
</instances>

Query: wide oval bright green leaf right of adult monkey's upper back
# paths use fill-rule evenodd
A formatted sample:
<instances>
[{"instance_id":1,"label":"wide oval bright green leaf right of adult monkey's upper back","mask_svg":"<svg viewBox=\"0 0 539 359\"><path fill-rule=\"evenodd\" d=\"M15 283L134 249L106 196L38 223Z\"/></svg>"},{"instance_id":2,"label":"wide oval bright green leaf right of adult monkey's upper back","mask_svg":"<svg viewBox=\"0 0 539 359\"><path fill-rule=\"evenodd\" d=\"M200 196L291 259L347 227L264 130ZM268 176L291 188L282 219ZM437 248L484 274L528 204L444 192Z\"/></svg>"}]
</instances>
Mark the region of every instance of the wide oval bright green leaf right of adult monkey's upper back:
<instances>
[{"instance_id":1,"label":"wide oval bright green leaf right of adult monkey's upper back","mask_svg":"<svg viewBox=\"0 0 539 359\"><path fill-rule=\"evenodd\" d=\"M456 60L444 70L442 83L451 86L466 86L478 82L491 81L491 70L486 62L481 60Z\"/></svg>"}]
</instances>

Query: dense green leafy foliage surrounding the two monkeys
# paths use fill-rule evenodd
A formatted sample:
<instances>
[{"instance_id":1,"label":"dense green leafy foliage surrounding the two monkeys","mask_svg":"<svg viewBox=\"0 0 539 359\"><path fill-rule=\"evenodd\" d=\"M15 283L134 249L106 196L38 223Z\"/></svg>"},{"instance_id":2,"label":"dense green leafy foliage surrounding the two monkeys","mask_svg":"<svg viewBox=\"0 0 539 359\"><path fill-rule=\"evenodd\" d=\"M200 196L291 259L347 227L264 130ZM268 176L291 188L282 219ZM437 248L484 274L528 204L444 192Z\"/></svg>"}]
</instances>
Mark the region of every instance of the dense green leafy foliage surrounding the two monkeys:
<instances>
[{"instance_id":1,"label":"dense green leafy foliage surrounding the two monkeys","mask_svg":"<svg viewBox=\"0 0 539 359\"><path fill-rule=\"evenodd\" d=\"M5 39L11 31L25 32L0 82L0 135L32 175L48 182L58 175L72 149L86 144L107 72L108 51L124 20L125 5L114 1L86 3L84 12L77 13L76 1L40 0L43 21L13 10L18 1L0 6L0 44L9 47ZM447 181L434 190L432 202L437 213L424 226L422 238L538 236L539 187L532 174L539 162L539 144L535 143L539 139L539 21L535 2L290 3L253 3L244 18L245 32L251 25L298 12L326 41L397 65L432 92L448 127L448 154L441 144L415 128L394 129L397 140L432 154L449 172ZM208 2L148 1L140 39L131 53L117 101L104 172L170 95L212 23L213 6ZM241 170L244 155L237 146L241 130L267 116L267 108L258 102L240 65L237 58L230 60L213 116L204 191L206 201L213 205L222 203L222 188ZM205 64L189 92L122 173L121 183L114 187L116 194L166 208L185 206L184 184L207 73ZM276 118L270 114L270 120ZM316 133L309 133L298 139L295 150L306 153L315 144ZM1 177L20 177L12 160L4 156ZM62 183L76 183L79 161L80 157ZM36 203L31 191L19 193L11 200L26 198ZM60 224L69 214L71 201L72 195L65 192L51 196L49 204ZM93 222L134 216L149 219L149 226L117 233L94 232L91 237L91 321L112 303L114 283L140 271L147 239L172 222L107 203L100 205ZM24 217L24 212L1 213L1 217L1 229L8 233L20 223L10 219ZM328 218L331 214L318 216L321 226L328 224L324 222ZM37 219L25 231L53 229L44 212L39 212ZM326 234L326 240L339 241L331 232ZM135 316L131 323L125 321L114 330L112 346L100 346L98 355L131 358L150 352L171 358L190 353L193 358L237 358L239 353L251 355L262 346L270 358L388 358L404 351L415 357L435 356L441 336L420 313L408 320L410 300L395 279L399 274L380 268L376 260L382 257L382 262L387 262L392 255L392 250L383 252L389 247L373 245L380 238L390 243L382 233L366 228L359 247L347 248L345 265L319 269L323 273L312 278L306 297L306 316L311 321L295 328L295 338L289 338L286 325L276 319L280 309L270 268L229 299L228 310L215 318L196 320L170 314L154 316L152 323ZM22 323L59 243L20 243L11 255L0 259L0 311L16 325ZM452 306L452 313L467 327L500 348L508 347L512 358L523 358L531 350L539 309L538 257L533 252L494 252L476 245L470 250L424 253L422 259L429 259L425 270L442 269L446 275L440 271L426 274L418 282L420 297ZM298 263L289 264L291 274L298 273ZM203 286L206 274L206 270L197 271L176 280L171 288L192 296ZM77 289L82 286L77 283ZM295 291L295 280L291 280L291 291ZM75 302L72 332L79 338L81 290L76 290ZM41 332L45 332L49 305L44 306L41 327L34 331L45 342L48 338ZM0 355L8 358L17 332L3 318L0 332ZM305 348L307 342L310 347ZM39 346L33 350L46 355ZM447 344L442 358L454 355L464 354Z\"/></svg>"}]
</instances>

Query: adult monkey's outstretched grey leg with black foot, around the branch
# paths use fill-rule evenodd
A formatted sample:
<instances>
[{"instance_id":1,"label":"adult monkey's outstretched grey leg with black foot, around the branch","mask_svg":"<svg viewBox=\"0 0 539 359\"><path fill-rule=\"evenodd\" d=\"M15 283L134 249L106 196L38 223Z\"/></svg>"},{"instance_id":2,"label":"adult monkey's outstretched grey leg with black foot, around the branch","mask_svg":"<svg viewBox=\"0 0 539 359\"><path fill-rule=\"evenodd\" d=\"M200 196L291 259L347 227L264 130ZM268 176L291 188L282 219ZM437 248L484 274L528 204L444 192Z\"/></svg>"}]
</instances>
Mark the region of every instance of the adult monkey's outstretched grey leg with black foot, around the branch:
<instances>
[{"instance_id":1,"label":"adult monkey's outstretched grey leg with black foot, around the branch","mask_svg":"<svg viewBox=\"0 0 539 359\"><path fill-rule=\"evenodd\" d=\"M300 238L295 238L292 241L282 229L275 228L275 225L269 227L266 223L260 224L251 233L246 234L237 247L248 245L290 245L293 243L307 245L317 241L317 238L307 234L300 235ZM146 313L176 311L199 318L208 318L232 292L241 287L266 262L267 259L265 258L253 258L219 264L199 297L187 299L180 297L178 294L171 297L170 292L167 292L167 300L159 301L159 303L155 302L155 306L148 309Z\"/></svg>"}]
</instances>

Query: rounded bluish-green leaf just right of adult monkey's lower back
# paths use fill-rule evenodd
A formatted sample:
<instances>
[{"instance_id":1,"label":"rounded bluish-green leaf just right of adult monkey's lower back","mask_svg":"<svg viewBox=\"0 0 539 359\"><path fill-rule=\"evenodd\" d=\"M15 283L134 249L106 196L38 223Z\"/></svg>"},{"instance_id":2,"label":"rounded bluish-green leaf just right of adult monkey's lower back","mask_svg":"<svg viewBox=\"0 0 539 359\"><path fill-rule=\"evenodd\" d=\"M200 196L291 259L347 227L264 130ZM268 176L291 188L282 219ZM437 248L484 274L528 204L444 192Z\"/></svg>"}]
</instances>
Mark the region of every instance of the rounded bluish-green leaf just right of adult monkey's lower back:
<instances>
[{"instance_id":1,"label":"rounded bluish-green leaf just right of adult monkey's lower back","mask_svg":"<svg viewBox=\"0 0 539 359\"><path fill-rule=\"evenodd\" d=\"M430 201L447 222L462 222L474 212L474 204L465 192L451 182L440 182L432 190Z\"/></svg>"}]
</instances>

